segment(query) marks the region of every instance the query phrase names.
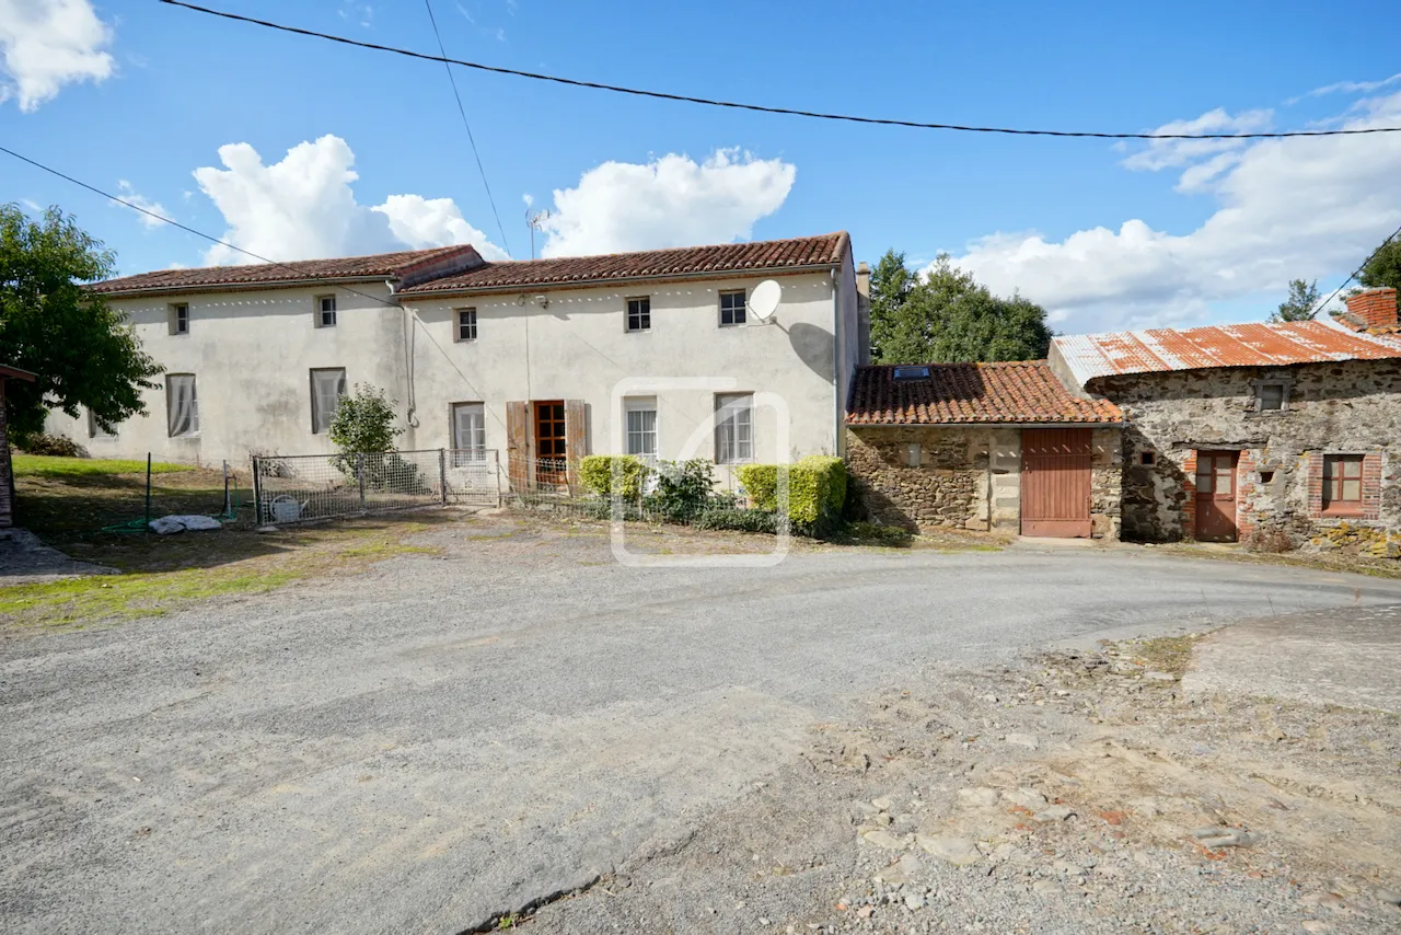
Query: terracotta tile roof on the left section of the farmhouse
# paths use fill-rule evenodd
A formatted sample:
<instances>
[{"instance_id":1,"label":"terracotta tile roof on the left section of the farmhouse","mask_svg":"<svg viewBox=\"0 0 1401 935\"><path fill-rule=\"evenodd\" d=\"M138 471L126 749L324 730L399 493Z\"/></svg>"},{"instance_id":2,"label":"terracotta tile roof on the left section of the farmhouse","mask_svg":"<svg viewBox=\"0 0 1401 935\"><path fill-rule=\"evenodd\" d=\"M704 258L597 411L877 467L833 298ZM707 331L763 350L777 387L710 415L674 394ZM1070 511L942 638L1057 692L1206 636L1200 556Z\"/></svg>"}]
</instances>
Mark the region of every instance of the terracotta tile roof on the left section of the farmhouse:
<instances>
[{"instance_id":1,"label":"terracotta tile roof on the left section of the farmhouse","mask_svg":"<svg viewBox=\"0 0 1401 935\"><path fill-rule=\"evenodd\" d=\"M332 259L297 259L287 264L254 264L247 266L202 266L199 269L158 269L136 276L106 279L88 286L108 296L149 292L200 292L210 289L248 289L286 286L308 280L343 282L356 279L402 279L416 268L434 261L461 257L467 262L481 262L469 245L406 250L368 257L336 257Z\"/></svg>"}]
</instances>

